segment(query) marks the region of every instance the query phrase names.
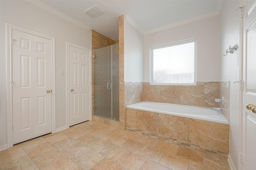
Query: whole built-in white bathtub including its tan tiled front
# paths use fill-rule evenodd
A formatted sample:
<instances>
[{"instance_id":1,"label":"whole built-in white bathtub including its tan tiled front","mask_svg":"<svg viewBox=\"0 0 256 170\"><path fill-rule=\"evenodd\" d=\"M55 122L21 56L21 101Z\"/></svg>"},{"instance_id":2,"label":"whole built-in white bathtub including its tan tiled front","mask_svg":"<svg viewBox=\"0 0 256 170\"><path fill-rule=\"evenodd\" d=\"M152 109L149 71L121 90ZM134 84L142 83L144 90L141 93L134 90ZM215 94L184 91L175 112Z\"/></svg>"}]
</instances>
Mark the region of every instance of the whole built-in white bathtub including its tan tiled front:
<instances>
[{"instance_id":1,"label":"whole built-in white bathtub including its tan tiled front","mask_svg":"<svg viewBox=\"0 0 256 170\"><path fill-rule=\"evenodd\" d=\"M229 123L221 111L144 101L127 106L125 113L126 129L223 158L228 156Z\"/></svg>"}]
</instances>

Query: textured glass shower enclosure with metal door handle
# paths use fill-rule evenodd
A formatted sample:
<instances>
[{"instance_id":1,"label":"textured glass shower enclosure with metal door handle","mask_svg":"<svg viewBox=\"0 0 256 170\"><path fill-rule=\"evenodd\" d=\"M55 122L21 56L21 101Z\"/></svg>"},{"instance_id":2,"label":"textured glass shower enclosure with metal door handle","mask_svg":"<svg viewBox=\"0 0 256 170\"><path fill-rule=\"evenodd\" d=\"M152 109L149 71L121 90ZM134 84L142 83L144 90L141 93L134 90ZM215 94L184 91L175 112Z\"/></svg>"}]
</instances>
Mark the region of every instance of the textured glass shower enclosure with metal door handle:
<instances>
[{"instance_id":1,"label":"textured glass shower enclosure with metal door handle","mask_svg":"<svg viewBox=\"0 0 256 170\"><path fill-rule=\"evenodd\" d=\"M94 50L94 115L119 121L119 44Z\"/></svg>"}]
</instances>

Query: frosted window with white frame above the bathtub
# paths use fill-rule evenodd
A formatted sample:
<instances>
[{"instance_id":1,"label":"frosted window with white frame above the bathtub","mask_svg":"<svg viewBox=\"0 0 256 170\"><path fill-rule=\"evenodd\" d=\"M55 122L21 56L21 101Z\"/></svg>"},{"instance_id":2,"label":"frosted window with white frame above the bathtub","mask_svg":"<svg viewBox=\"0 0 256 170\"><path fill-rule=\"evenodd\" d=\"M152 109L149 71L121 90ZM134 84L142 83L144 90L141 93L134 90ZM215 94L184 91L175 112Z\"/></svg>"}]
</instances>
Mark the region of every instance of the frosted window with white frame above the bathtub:
<instances>
[{"instance_id":1,"label":"frosted window with white frame above the bathtub","mask_svg":"<svg viewBox=\"0 0 256 170\"><path fill-rule=\"evenodd\" d=\"M150 84L195 85L196 39L156 45L151 50Z\"/></svg>"}]
</instances>

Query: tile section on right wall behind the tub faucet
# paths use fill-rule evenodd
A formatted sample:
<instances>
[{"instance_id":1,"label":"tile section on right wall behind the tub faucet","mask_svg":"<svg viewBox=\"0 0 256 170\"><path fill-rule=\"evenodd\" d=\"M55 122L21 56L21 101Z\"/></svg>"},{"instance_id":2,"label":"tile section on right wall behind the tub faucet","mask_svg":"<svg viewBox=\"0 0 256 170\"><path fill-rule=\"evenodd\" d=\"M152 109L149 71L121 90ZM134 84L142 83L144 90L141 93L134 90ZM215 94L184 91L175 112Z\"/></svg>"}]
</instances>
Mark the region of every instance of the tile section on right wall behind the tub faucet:
<instances>
[{"instance_id":1,"label":"tile section on right wall behind the tub faucet","mask_svg":"<svg viewBox=\"0 0 256 170\"><path fill-rule=\"evenodd\" d=\"M230 81L220 82L220 96L224 97L222 113L229 122L230 106ZM219 104L219 107L220 104Z\"/></svg>"}]
</instances>

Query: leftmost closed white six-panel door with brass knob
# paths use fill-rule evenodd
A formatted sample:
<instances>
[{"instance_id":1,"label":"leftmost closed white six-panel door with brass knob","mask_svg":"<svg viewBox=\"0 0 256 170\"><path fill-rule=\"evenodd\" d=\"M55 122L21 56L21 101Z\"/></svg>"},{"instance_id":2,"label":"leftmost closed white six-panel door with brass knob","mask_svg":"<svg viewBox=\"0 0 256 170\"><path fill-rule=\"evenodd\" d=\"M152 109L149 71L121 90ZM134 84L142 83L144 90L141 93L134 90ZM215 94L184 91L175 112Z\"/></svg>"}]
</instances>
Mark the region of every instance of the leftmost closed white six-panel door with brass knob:
<instances>
[{"instance_id":1,"label":"leftmost closed white six-panel door with brass knob","mask_svg":"<svg viewBox=\"0 0 256 170\"><path fill-rule=\"evenodd\" d=\"M14 29L12 39L13 144L16 144L52 132L51 41Z\"/></svg>"}]
</instances>

